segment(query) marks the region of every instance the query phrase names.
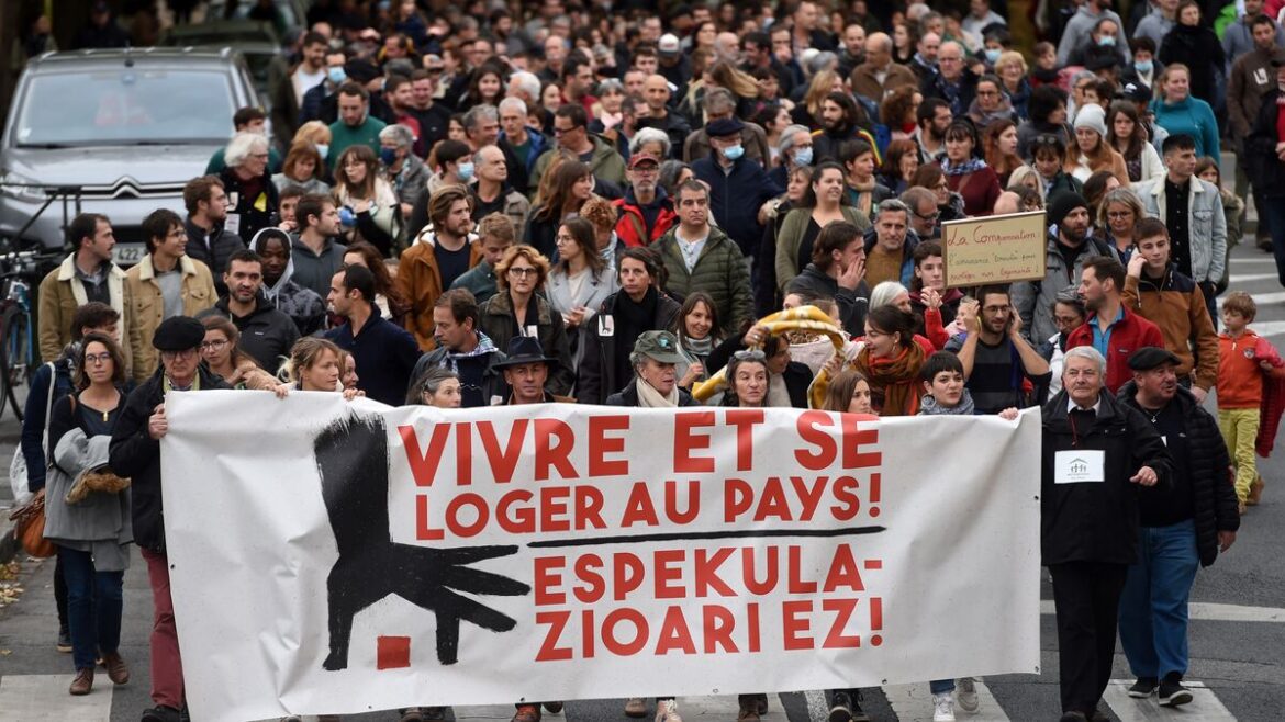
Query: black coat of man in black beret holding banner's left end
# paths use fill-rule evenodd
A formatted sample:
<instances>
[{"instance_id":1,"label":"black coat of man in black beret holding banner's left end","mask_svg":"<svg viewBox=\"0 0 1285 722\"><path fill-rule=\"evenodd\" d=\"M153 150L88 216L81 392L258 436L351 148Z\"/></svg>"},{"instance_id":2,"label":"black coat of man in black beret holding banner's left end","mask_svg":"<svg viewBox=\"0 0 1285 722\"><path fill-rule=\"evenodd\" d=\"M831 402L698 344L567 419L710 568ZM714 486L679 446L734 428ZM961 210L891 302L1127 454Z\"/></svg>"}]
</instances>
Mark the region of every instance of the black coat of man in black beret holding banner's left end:
<instances>
[{"instance_id":1,"label":"black coat of man in black beret holding banner's left end","mask_svg":"<svg viewBox=\"0 0 1285 722\"><path fill-rule=\"evenodd\" d=\"M198 367L203 391L231 388L206 369ZM128 477L134 489L134 541L139 547L164 554L164 509L161 501L161 442L148 434L148 420L164 401L164 367L130 393L125 411L116 420L108 464L117 477Z\"/></svg>"}]
</instances>

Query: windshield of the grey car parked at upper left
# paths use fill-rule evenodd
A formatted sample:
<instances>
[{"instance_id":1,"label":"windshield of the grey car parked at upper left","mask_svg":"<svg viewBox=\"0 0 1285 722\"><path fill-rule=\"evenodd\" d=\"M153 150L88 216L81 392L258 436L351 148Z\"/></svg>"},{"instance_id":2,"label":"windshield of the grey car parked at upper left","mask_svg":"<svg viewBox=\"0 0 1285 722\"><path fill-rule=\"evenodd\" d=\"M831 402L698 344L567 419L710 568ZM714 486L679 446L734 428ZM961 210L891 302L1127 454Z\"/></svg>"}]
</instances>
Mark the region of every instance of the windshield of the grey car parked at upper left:
<instances>
[{"instance_id":1,"label":"windshield of the grey car parked at upper left","mask_svg":"<svg viewBox=\"0 0 1285 722\"><path fill-rule=\"evenodd\" d=\"M231 81L216 69L42 73L15 126L18 145L226 143Z\"/></svg>"}]
</instances>

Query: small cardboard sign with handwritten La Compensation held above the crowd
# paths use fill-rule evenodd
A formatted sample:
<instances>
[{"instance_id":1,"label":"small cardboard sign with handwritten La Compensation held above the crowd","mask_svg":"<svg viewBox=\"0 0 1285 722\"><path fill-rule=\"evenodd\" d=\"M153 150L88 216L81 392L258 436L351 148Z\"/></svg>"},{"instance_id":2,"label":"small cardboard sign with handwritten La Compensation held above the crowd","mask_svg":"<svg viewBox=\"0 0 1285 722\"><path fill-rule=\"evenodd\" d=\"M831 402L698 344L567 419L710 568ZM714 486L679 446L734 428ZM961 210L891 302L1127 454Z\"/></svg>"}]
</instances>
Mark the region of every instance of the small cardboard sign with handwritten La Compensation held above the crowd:
<instances>
[{"instance_id":1,"label":"small cardboard sign with handwritten La Compensation held above the crowd","mask_svg":"<svg viewBox=\"0 0 1285 722\"><path fill-rule=\"evenodd\" d=\"M946 221L946 288L1042 279L1047 243L1043 211Z\"/></svg>"}]
</instances>

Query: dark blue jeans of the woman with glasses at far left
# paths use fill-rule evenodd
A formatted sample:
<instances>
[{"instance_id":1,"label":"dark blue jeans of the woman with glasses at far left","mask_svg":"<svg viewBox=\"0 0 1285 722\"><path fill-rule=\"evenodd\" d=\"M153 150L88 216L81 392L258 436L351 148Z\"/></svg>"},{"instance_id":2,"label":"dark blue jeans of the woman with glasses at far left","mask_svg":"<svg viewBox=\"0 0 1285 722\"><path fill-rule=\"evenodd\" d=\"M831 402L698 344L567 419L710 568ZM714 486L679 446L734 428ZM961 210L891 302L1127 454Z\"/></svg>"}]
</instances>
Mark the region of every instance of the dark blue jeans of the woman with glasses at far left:
<instances>
[{"instance_id":1,"label":"dark blue jeans of the woman with glasses at far left","mask_svg":"<svg viewBox=\"0 0 1285 722\"><path fill-rule=\"evenodd\" d=\"M125 572L95 572L87 551L58 547L67 577L67 623L76 669L93 669L98 653L121 646Z\"/></svg>"}]
</instances>

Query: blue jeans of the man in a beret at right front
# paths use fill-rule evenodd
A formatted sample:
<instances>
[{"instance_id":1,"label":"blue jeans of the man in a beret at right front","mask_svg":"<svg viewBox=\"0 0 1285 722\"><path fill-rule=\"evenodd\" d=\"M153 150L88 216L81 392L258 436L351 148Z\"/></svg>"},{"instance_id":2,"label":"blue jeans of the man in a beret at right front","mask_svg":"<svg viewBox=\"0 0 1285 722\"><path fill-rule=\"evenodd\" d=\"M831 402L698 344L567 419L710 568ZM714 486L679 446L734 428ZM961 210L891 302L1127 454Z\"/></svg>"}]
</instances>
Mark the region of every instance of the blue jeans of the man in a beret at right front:
<instances>
[{"instance_id":1,"label":"blue jeans of the man in a beret at right front","mask_svg":"<svg viewBox=\"0 0 1285 722\"><path fill-rule=\"evenodd\" d=\"M1121 646L1137 677L1187 671L1187 597L1200 568L1195 522L1140 529L1121 595Z\"/></svg>"}]
</instances>

